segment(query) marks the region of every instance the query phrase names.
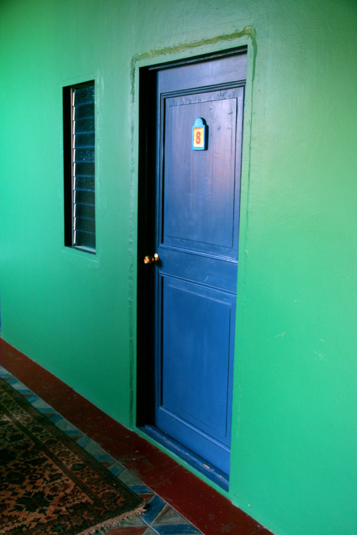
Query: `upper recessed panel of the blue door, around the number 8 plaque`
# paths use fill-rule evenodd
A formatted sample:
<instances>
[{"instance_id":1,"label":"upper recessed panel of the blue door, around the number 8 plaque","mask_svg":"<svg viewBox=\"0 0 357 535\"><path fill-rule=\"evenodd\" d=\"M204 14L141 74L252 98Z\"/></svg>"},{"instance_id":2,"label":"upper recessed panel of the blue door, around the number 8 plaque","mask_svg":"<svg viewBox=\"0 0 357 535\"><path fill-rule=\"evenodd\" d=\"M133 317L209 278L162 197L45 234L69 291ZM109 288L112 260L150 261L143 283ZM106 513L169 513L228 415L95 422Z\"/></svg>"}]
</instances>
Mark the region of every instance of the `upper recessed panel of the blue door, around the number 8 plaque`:
<instances>
[{"instance_id":1,"label":"upper recessed panel of the blue door, around the number 8 plaque","mask_svg":"<svg viewBox=\"0 0 357 535\"><path fill-rule=\"evenodd\" d=\"M237 259L242 103L243 88L164 99L163 244ZM192 150L198 117L208 125L202 151Z\"/></svg>"}]
</instances>

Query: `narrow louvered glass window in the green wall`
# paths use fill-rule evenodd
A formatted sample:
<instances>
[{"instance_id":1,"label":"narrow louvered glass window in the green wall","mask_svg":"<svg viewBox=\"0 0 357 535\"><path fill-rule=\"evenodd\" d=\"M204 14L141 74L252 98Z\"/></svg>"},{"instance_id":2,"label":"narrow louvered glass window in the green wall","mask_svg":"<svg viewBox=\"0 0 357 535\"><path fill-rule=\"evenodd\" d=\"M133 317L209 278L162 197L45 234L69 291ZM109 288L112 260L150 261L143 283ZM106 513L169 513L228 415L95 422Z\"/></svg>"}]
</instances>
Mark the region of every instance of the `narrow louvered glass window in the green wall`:
<instances>
[{"instance_id":1,"label":"narrow louvered glass window in the green wall","mask_svg":"<svg viewBox=\"0 0 357 535\"><path fill-rule=\"evenodd\" d=\"M63 88L65 245L95 253L94 81Z\"/></svg>"}]
</instances>

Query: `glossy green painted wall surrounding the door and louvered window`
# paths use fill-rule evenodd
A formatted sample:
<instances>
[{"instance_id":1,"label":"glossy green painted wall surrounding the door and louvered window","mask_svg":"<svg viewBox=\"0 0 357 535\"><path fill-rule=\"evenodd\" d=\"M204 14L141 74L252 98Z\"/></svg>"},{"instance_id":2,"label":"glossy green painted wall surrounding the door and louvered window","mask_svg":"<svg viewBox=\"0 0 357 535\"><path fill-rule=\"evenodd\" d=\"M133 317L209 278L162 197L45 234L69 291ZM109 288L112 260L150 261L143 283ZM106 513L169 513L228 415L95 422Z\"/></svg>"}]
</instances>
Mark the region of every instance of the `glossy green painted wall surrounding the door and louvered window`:
<instances>
[{"instance_id":1,"label":"glossy green painted wall surrounding the door and louvered window","mask_svg":"<svg viewBox=\"0 0 357 535\"><path fill-rule=\"evenodd\" d=\"M356 529L356 22L355 0L0 2L2 336L127 426L133 58L251 28L229 495L277 535ZM93 78L96 256L63 247L62 87Z\"/></svg>"}]
</instances>

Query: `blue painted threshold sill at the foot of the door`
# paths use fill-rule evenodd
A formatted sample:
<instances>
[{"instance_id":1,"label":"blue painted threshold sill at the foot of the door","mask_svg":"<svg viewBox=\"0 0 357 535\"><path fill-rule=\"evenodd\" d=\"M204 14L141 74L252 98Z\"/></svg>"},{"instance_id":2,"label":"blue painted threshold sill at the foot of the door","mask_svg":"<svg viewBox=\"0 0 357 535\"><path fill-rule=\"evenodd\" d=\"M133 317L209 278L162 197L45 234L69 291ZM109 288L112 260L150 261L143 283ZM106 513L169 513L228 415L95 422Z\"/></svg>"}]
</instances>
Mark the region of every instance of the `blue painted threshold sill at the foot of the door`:
<instances>
[{"instance_id":1,"label":"blue painted threshold sill at the foot of the door","mask_svg":"<svg viewBox=\"0 0 357 535\"><path fill-rule=\"evenodd\" d=\"M202 473L203 476L206 476L213 483L216 483L216 485L228 492L229 476L227 476L226 473L216 468L213 464L205 461L199 455L194 454L190 449L185 448L185 446L179 444L179 442L157 429L157 427L154 427L153 425L145 425L138 427L138 429L147 434L148 437L154 439L158 444L161 444L161 446L169 449L180 459L191 465L192 468Z\"/></svg>"}]
</instances>

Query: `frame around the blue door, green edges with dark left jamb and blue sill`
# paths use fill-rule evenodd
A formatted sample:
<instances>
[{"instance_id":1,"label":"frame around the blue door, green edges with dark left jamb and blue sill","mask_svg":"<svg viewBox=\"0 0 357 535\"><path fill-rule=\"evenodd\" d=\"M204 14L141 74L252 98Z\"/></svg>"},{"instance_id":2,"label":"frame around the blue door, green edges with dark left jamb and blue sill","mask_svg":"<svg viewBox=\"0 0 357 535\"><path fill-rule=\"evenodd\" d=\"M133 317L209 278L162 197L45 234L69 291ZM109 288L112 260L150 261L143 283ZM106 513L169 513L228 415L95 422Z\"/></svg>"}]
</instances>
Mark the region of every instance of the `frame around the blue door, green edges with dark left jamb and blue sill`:
<instances>
[{"instance_id":1,"label":"frame around the blue door, green edges with dark left jamb and blue sill","mask_svg":"<svg viewBox=\"0 0 357 535\"><path fill-rule=\"evenodd\" d=\"M237 35L237 34L236 34ZM242 169L241 169L241 201L240 201L240 225L239 225L239 255L240 257L244 251L244 236L246 230L246 215L247 215L247 201L248 201L248 185L249 185L249 146L251 137L251 119L252 119L252 94L253 94L253 80L255 70L255 35L244 33L238 37L232 37L230 40L230 47L227 48L225 39L221 42L207 43L205 45L198 44L197 46L189 47L186 50L178 51L172 49L171 53L168 51L159 53L154 56L141 55L144 57L136 57L132 60L132 198L133 212L137 216L137 227L133 229L132 238L132 280L131 285L131 308L132 308L132 427L141 436L155 444L165 453L175 458L178 462L183 464L188 470L194 472L211 486L216 488L219 492L229 495L229 484L222 475L217 472L214 467L200 462L199 458L192 456L183 446L179 445L173 439L168 439L163 436L163 433L158 432L155 427L150 425L154 422L154 366L153 362L153 344L150 339L150 331L152 332L152 324L145 322L145 303L150 300L149 285L145 284L144 278L147 274L143 271L142 258L148 254L145 248L146 244L153 240L153 213L150 206L154 201L155 196L155 169L153 167L154 158L149 157L152 152L150 150L152 143L155 143L155 136L149 136L149 123L155 117L155 110L149 109L147 102L148 97L155 102L155 71L158 69L170 67L173 65L186 65L189 63L199 63L202 60L211 59L214 57L226 57L229 55L236 55L237 53L247 53L247 76L246 76L246 90L245 90L245 105L244 105L244 120L243 130L244 137L242 143ZM189 49L189 50L187 50ZM170 56L168 57L168 54ZM145 57L146 56L146 57ZM145 88L145 89L143 89ZM154 119L154 124L156 120ZM151 184L150 184L151 181ZM151 186L151 187L150 187ZM136 202L135 202L136 201ZM136 250L133 244L136 241ZM154 249L153 249L154 250ZM145 252L144 252L145 251ZM136 254L135 254L136 253ZM149 251L150 253L150 251ZM240 263L242 264L242 263ZM238 280L239 279L238 269ZM135 292L136 290L136 292ZM240 299L239 286L237 292L237 314L236 314L236 346L238 341L237 327L238 321L238 300ZM238 341L239 343L239 341ZM235 366L237 369L238 366ZM236 373L234 373L236 375ZM233 377L233 419L232 419L232 449L235 440L233 436L236 435L233 422L236 421L234 415L236 410L234 407L234 399L237 398L237 381ZM238 401L238 400L237 400Z\"/></svg>"}]
</instances>

